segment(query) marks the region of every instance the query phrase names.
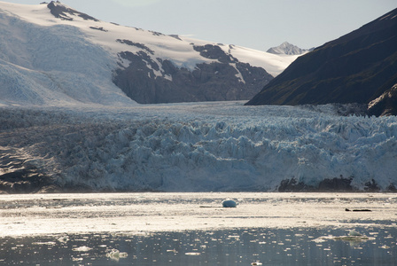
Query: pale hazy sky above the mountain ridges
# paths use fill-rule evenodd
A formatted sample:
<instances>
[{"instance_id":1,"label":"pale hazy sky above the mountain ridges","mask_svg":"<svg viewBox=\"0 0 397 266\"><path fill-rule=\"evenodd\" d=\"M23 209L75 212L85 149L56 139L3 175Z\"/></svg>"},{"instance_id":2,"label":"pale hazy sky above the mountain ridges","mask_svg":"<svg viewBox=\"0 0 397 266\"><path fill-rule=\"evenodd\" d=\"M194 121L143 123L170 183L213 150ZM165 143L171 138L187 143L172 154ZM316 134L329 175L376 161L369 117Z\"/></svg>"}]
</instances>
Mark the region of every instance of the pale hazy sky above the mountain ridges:
<instances>
[{"instance_id":1,"label":"pale hazy sky above the mountain ridges","mask_svg":"<svg viewBox=\"0 0 397 266\"><path fill-rule=\"evenodd\" d=\"M1 0L0 0L1 1ZM45 0L9 0L39 4ZM49 2L49 0L46 0ZM63 0L98 20L261 51L311 48L397 8L396 0Z\"/></svg>"}]
</instances>

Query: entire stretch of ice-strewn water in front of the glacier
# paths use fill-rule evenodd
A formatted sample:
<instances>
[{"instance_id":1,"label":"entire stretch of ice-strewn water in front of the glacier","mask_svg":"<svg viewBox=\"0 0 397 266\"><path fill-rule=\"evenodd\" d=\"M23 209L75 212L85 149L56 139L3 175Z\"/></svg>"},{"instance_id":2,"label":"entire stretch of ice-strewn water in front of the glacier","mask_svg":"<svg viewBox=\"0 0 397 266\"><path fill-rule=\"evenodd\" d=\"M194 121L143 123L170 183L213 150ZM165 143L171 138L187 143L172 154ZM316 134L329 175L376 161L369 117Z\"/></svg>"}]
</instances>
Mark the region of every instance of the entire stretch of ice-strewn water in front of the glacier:
<instances>
[{"instance_id":1,"label":"entire stretch of ice-strewn water in front of the glacier","mask_svg":"<svg viewBox=\"0 0 397 266\"><path fill-rule=\"evenodd\" d=\"M0 264L397 265L396 203L394 193L0 195Z\"/></svg>"}]
</instances>

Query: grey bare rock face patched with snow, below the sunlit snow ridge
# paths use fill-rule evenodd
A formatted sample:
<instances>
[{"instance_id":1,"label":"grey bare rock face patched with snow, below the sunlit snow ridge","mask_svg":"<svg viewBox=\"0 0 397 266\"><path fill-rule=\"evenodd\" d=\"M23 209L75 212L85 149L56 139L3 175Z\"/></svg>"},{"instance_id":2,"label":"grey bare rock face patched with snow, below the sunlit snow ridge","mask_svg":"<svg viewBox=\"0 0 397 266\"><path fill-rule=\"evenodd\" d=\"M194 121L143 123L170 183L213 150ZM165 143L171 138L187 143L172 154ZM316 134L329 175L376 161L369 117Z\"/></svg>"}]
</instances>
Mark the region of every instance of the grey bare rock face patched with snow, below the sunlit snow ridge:
<instances>
[{"instance_id":1,"label":"grey bare rock face patched with snow, below the sunlit snow ridge","mask_svg":"<svg viewBox=\"0 0 397 266\"><path fill-rule=\"evenodd\" d=\"M141 49L143 45L128 40L118 42ZM158 104L245 100L253 98L273 79L263 68L241 63L217 45L194 46L194 50L214 62L198 64L191 70L179 68L168 59L156 62L148 55L148 49L122 52L120 57L130 64L115 72L113 82L140 104Z\"/></svg>"}]
</instances>

